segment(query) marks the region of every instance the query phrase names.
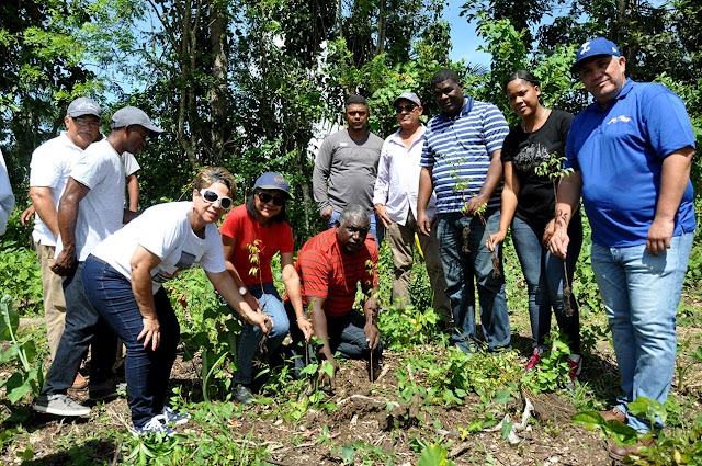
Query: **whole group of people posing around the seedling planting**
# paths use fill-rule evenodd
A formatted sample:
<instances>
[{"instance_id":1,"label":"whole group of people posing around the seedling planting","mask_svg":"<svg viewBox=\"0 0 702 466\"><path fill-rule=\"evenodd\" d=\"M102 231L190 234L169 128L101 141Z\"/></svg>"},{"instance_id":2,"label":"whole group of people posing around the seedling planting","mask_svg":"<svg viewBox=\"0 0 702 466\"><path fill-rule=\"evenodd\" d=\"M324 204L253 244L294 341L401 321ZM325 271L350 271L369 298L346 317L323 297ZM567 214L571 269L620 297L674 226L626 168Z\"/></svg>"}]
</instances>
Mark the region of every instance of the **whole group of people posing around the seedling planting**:
<instances>
[{"instance_id":1,"label":"whole group of people posing around the seedling planting","mask_svg":"<svg viewBox=\"0 0 702 466\"><path fill-rule=\"evenodd\" d=\"M694 138L682 101L663 86L626 78L625 65L603 37L581 45L571 71L595 102L577 116L545 106L539 78L517 71L503 87L520 117L511 129L497 106L464 94L450 69L431 80L441 112L423 125L420 99L403 92L393 102L399 128L385 140L369 130L365 99L352 95L347 127L324 140L315 160L315 201L329 229L306 241L296 261L285 221L293 190L283 175L261 174L218 230L236 198L231 174L219 167L196 175L192 201L136 216L123 209L124 154L137 154L162 129L143 111L125 107L112 116L112 133L95 141L100 106L76 100L67 130L37 148L31 166L47 328L58 299L47 284L58 275L66 297L65 312L57 311L60 331L49 328L54 363L35 409L90 412L67 395L86 385L79 368L89 345L89 397L114 396L118 337L127 351L134 432L170 434L169 425L186 422L186 413L165 405L180 328L161 285L197 263L244 323L236 401L253 400L252 362L264 337L272 355L291 333L296 374L315 356L328 360L335 375L338 354L377 363L376 264L384 236L397 308L410 304L417 235L433 307L452 342L467 353L480 344L510 350L502 273L510 228L528 284L532 352L525 370L537 368L550 350L554 314L569 348L568 385L575 386L582 368L579 315L567 288L582 243L582 198L622 375L623 393L602 416L642 433L656 431L660 420L652 425L626 404L638 396L665 402L672 380L676 309L697 226L689 179ZM282 298L271 271L279 252ZM362 314L353 310L359 284ZM313 336L318 344L306 344ZM613 444L610 454L621 459L652 439Z\"/></svg>"}]
</instances>

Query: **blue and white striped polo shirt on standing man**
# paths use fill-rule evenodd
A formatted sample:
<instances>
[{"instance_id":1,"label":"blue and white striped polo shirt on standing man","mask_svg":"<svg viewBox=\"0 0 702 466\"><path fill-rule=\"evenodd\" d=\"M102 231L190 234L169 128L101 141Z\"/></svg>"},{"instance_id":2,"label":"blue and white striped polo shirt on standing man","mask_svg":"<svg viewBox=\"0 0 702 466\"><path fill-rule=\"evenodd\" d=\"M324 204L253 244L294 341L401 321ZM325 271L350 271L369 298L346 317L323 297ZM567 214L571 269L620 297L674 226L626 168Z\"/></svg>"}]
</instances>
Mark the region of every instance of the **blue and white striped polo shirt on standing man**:
<instances>
[{"instance_id":1,"label":"blue and white striped polo shirt on standing man","mask_svg":"<svg viewBox=\"0 0 702 466\"><path fill-rule=\"evenodd\" d=\"M433 167L437 212L461 212L476 195L490 166L489 155L502 148L509 126L497 106L466 95L461 113L451 117L441 112L427 124L422 167ZM467 182L467 183L466 183ZM466 184L463 190L456 184ZM488 208L499 207L501 183L488 201Z\"/></svg>"}]
</instances>

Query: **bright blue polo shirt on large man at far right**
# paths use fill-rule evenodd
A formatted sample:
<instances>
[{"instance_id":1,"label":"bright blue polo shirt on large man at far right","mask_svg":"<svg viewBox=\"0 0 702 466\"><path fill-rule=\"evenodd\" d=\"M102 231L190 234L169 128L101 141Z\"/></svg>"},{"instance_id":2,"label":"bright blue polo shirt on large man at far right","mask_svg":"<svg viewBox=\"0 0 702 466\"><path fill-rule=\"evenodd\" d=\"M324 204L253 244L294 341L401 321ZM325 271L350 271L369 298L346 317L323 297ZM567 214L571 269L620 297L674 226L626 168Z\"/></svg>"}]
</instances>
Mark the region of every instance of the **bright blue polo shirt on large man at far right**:
<instances>
[{"instance_id":1,"label":"bright blue polo shirt on large man at far right","mask_svg":"<svg viewBox=\"0 0 702 466\"><path fill-rule=\"evenodd\" d=\"M592 241L607 248L646 242L660 194L663 160L694 147L684 103L669 89L626 80L602 109L589 105L570 125L566 167L582 174L582 203ZM695 228L688 181L673 236Z\"/></svg>"}]
</instances>

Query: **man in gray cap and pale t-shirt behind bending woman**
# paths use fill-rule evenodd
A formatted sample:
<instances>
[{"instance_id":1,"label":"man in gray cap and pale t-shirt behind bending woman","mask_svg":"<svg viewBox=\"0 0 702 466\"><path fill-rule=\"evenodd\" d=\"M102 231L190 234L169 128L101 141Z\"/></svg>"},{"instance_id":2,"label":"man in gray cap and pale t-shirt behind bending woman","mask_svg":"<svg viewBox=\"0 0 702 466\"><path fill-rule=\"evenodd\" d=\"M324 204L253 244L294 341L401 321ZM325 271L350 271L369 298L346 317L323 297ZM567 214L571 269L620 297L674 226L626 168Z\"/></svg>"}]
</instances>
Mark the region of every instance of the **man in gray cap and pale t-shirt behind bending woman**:
<instances>
[{"instance_id":1,"label":"man in gray cap and pale t-shirt behind bending woman","mask_svg":"<svg viewBox=\"0 0 702 466\"><path fill-rule=\"evenodd\" d=\"M116 394L112 365L117 340L86 297L82 268L93 247L135 217L124 209L125 175L121 155L138 152L150 135L163 129L133 106L115 112L111 127L110 136L90 145L76 163L59 202L60 238L52 271L64 276L66 328L46 375L46 385L34 405L37 411L58 416L90 412L90 408L75 402L66 391L91 343L89 397L94 400Z\"/></svg>"}]
</instances>

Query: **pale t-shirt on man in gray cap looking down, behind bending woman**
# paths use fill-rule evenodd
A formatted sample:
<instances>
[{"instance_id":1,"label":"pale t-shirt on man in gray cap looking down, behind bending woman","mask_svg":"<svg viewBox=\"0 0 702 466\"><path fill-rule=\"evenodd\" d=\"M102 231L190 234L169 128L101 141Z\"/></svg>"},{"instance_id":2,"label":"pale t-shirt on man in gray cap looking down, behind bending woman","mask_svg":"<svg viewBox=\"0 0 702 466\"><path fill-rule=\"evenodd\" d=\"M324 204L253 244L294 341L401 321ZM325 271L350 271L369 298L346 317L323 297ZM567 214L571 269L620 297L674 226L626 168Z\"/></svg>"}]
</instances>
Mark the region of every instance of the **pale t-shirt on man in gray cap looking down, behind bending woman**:
<instances>
[{"instance_id":1,"label":"pale t-shirt on man in gray cap looking down, behind bending woman","mask_svg":"<svg viewBox=\"0 0 702 466\"><path fill-rule=\"evenodd\" d=\"M78 159L70 178L90 189L78 205L76 254L84 261L103 239L122 228L125 174L122 158L105 139L93 143ZM56 257L63 242L56 245Z\"/></svg>"}]
</instances>

